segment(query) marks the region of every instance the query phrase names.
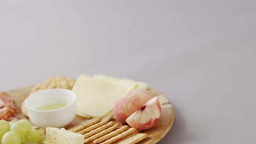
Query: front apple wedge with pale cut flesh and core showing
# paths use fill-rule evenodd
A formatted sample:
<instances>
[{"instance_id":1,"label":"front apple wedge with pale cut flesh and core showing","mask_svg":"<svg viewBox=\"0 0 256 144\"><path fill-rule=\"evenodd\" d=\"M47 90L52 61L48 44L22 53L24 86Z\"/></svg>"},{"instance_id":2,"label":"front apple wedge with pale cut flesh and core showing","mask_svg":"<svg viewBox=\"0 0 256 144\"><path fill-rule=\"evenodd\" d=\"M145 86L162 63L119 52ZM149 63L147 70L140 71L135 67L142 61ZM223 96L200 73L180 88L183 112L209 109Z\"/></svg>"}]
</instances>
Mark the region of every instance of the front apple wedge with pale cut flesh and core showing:
<instances>
[{"instance_id":1,"label":"front apple wedge with pale cut flesh and core showing","mask_svg":"<svg viewBox=\"0 0 256 144\"><path fill-rule=\"evenodd\" d=\"M155 127L161 115L161 105L157 97L147 101L140 109L133 112L127 119L127 124L137 130L146 130Z\"/></svg>"}]
</instances>

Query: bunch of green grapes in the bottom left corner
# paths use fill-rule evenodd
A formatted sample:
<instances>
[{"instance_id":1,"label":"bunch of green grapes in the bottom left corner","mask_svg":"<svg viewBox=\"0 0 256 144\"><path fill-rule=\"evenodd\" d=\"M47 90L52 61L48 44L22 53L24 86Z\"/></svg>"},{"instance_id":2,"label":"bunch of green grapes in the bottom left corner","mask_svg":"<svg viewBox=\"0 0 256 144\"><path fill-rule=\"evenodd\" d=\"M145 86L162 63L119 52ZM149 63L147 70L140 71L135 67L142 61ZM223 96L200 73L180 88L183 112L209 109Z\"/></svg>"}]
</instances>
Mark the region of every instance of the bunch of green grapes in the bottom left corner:
<instances>
[{"instance_id":1,"label":"bunch of green grapes in the bottom left corner","mask_svg":"<svg viewBox=\"0 0 256 144\"><path fill-rule=\"evenodd\" d=\"M44 131L26 119L19 121L0 120L0 144L43 144Z\"/></svg>"}]
</instances>

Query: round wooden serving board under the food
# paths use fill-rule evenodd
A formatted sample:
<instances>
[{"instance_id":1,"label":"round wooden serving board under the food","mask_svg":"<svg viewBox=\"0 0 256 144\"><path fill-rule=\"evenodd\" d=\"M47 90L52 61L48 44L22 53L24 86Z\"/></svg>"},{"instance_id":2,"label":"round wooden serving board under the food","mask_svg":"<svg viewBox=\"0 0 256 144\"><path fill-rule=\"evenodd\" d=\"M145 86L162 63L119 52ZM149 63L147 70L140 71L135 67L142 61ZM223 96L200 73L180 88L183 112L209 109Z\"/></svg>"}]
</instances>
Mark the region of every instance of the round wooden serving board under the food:
<instances>
[{"instance_id":1,"label":"round wooden serving board under the food","mask_svg":"<svg viewBox=\"0 0 256 144\"><path fill-rule=\"evenodd\" d=\"M17 89L7 91L11 99L15 101L15 106L16 106L15 117L18 119L26 118L24 115L22 115L20 107L21 107L22 101L28 96L32 87L33 86L28 86L24 88L17 88ZM154 128L141 131L141 133L148 134L148 137L139 143L153 144L153 143L159 142L162 139L162 137L164 137L168 133L168 131L171 129L172 123L174 121L174 110L172 105L169 103L168 99L164 95L162 95L158 91L155 91L152 88L150 88L149 91L159 98L162 112L161 112L160 120ZM88 120L88 118L82 118L77 116L69 125L67 125L66 128L73 127L74 125L80 122L84 122L86 120Z\"/></svg>"}]
</instances>

